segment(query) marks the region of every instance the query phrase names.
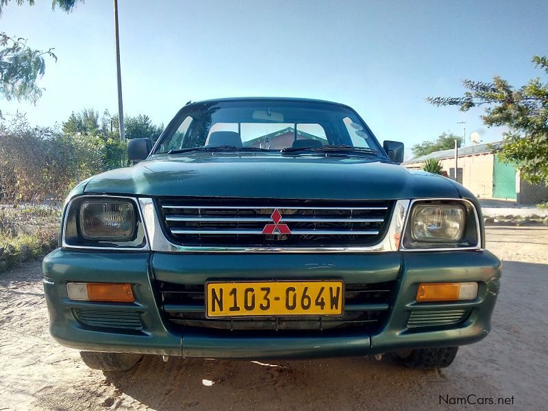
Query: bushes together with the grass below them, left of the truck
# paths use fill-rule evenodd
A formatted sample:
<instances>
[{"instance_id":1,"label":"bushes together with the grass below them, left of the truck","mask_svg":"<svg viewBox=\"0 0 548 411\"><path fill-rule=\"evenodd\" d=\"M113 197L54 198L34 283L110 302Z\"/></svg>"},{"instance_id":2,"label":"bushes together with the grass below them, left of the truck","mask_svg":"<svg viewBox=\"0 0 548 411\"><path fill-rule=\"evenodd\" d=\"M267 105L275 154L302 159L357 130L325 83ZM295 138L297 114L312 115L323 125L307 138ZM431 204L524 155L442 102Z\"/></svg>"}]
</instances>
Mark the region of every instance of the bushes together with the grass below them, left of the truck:
<instances>
[{"instance_id":1,"label":"bushes together with the grass below them, left of the truck","mask_svg":"<svg viewBox=\"0 0 548 411\"><path fill-rule=\"evenodd\" d=\"M123 162L125 144L108 133L0 123L0 271L53 249L69 190Z\"/></svg>"}]
</instances>

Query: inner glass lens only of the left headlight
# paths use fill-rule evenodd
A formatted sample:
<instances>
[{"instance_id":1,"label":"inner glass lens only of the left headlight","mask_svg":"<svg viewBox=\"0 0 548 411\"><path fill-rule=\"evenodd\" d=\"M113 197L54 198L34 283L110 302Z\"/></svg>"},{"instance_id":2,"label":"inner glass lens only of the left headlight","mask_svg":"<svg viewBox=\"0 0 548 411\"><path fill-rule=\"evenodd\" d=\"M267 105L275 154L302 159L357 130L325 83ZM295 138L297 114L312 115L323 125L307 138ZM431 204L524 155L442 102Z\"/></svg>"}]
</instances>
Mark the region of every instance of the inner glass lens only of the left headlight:
<instances>
[{"instance_id":1,"label":"inner glass lens only of the left headlight","mask_svg":"<svg viewBox=\"0 0 548 411\"><path fill-rule=\"evenodd\" d=\"M129 241L136 219L129 201L84 201L80 206L80 234L86 240Z\"/></svg>"}]
</instances>

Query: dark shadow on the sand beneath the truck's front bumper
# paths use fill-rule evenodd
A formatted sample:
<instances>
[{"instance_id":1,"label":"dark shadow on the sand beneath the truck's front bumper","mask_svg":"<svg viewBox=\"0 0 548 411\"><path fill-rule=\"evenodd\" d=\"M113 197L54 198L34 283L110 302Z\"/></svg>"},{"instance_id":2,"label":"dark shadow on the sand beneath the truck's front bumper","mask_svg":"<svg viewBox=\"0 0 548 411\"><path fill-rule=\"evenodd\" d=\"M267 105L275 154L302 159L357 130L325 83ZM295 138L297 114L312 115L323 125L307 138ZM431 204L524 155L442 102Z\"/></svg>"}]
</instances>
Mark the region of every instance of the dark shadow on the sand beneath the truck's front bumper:
<instances>
[{"instance_id":1,"label":"dark shadow on the sand beneath the truck's front bumper","mask_svg":"<svg viewBox=\"0 0 548 411\"><path fill-rule=\"evenodd\" d=\"M358 404L382 407L393 390L413 396L418 386L446 381L439 371L404 369L393 356L306 361L225 361L145 356L129 373L107 382L156 410L181 408L315 409ZM416 394L415 394L416 395ZM391 403L393 401L390 401ZM418 406L420 401L416 403ZM407 406L408 403L401 403Z\"/></svg>"}]
</instances>

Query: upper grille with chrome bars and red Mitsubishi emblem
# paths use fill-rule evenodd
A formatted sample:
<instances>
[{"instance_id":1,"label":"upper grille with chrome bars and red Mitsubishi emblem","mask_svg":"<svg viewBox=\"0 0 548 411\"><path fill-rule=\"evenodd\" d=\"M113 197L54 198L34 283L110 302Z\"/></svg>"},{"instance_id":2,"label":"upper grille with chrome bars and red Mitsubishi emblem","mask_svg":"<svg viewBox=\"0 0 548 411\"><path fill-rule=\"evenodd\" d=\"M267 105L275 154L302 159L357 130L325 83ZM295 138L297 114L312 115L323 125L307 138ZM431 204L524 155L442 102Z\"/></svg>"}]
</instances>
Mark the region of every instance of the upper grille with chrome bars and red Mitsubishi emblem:
<instances>
[{"instance_id":1,"label":"upper grille with chrome bars and red Mitsubishi emblem","mask_svg":"<svg viewBox=\"0 0 548 411\"><path fill-rule=\"evenodd\" d=\"M170 240L196 247L374 245L384 236L392 208L393 201L177 198L158 201L160 220Z\"/></svg>"}]
</instances>

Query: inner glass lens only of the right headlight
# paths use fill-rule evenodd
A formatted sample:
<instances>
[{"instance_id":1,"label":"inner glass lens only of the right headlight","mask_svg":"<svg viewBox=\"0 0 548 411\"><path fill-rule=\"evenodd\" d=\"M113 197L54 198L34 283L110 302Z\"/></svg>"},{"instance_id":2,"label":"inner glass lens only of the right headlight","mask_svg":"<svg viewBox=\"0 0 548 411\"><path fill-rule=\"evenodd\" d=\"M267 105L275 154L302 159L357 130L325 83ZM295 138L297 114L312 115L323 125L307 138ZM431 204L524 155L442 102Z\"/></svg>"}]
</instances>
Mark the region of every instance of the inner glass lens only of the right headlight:
<instances>
[{"instance_id":1,"label":"inner glass lens only of the right headlight","mask_svg":"<svg viewBox=\"0 0 548 411\"><path fill-rule=\"evenodd\" d=\"M416 241L456 242L464 233L464 217L464 207L461 206L417 205L410 221L411 236Z\"/></svg>"}]
</instances>

